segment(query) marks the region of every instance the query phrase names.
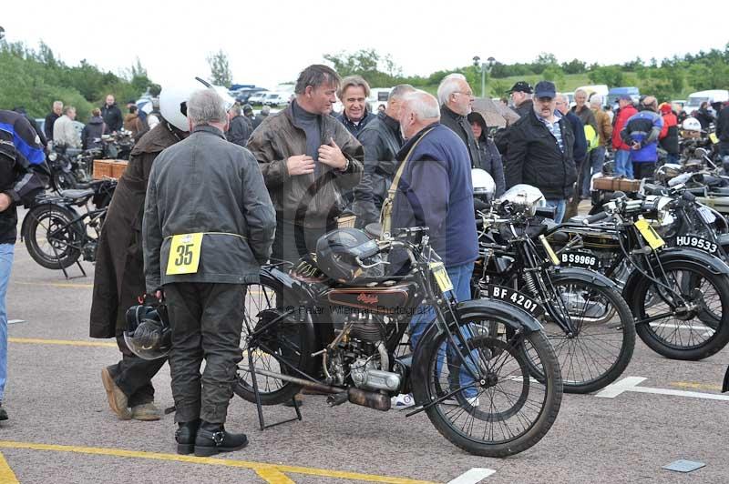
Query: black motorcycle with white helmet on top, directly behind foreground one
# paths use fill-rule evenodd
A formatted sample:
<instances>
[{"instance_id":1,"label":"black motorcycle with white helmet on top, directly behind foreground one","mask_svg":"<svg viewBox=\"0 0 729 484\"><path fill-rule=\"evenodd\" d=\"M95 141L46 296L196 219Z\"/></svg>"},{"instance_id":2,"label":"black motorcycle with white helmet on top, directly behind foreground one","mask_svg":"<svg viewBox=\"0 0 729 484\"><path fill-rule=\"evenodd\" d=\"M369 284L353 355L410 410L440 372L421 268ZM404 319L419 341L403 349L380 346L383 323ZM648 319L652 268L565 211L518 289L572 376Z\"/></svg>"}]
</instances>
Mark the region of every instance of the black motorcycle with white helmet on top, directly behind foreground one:
<instances>
[{"instance_id":1,"label":"black motorcycle with white helmet on top, directly behind foreground one","mask_svg":"<svg viewBox=\"0 0 729 484\"><path fill-rule=\"evenodd\" d=\"M472 286L479 296L515 297L540 319L560 361L564 391L596 391L631 361L631 310L608 277L585 268L585 255L571 253L562 263L564 256L543 236L553 226L554 209L534 207L539 200L538 189L521 185L478 213L480 257Z\"/></svg>"}]
</instances>

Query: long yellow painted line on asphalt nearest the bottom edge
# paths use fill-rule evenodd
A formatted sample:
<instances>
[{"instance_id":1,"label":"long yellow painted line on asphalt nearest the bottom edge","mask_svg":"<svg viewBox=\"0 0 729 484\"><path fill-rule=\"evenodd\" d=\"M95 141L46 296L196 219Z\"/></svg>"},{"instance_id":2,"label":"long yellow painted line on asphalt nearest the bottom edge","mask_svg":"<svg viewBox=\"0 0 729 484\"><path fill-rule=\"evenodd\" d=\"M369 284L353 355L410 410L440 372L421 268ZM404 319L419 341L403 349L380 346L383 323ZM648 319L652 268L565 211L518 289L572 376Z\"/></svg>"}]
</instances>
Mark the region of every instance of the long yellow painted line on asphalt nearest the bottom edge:
<instances>
[{"instance_id":1,"label":"long yellow painted line on asphalt nearest the bottom edge","mask_svg":"<svg viewBox=\"0 0 729 484\"><path fill-rule=\"evenodd\" d=\"M77 447L64 446L55 444L34 444L29 442L15 442L12 440L0 440L0 449L32 449L32 450L50 450L56 452L74 452L77 454L92 454L98 456L126 457L137 459L155 459L168 460L177 462L189 462L191 464L208 464L211 466L225 466L240 469L252 469L262 479L266 479L271 483L289 484L292 482L284 473L291 472L293 474L304 474L308 476L318 476L323 478L364 480L367 482L383 482L388 484L433 484L426 480L394 478L389 476L378 476L375 474L360 474L357 472L345 472L341 470L303 468L296 466L284 466L278 464L268 464L265 462L252 462L248 460L233 459L215 459L194 456L180 456L177 454L162 454L159 452L143 452L139 450L124 449L105 449L97 447ZM274 472L275 471L275 472ZM271 479L271 480L269 480ZM282 480L288 479L288 480Z\"/></svg>"}]
</instances>

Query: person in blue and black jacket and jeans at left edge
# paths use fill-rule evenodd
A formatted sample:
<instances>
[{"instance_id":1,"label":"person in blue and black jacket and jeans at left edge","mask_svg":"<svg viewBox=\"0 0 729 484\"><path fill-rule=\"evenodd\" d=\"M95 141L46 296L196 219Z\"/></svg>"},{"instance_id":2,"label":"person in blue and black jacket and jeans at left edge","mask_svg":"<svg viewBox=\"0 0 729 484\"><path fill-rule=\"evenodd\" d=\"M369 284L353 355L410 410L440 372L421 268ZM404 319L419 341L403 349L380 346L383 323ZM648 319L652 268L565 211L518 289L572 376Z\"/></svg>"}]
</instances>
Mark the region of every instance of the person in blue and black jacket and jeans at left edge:
<instances>
[{"instance_id":1,"label":"person in blue and black jacket and jeans at left edge","mask_svg":"<svg viewBox=\"0 0 729 484\"><path fill-rule=\"evenodd\" d=\"M25 116L0 111L0 420L7 379L7 312L5 295L13 266L17 211L43 191L50 177L40 137Z\"/></svg>"}]
</instances>

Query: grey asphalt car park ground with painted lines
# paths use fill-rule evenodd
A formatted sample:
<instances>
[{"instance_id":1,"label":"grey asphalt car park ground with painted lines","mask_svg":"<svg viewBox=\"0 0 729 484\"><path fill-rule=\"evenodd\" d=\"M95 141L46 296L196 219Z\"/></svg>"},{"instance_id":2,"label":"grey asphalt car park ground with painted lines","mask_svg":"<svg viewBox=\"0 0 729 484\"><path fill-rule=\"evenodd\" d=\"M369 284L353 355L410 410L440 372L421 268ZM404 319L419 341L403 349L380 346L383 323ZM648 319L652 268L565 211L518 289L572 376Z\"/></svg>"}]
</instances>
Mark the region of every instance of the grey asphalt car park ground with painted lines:
<instances>
[{"instance_id":1,"label":"grey asphalt car park ground with painted lines","mask_svg":"<svg viewBox=\"0 0 729 484\"><path fill-rule=\"evenodd\" d=\"M234 397L228 429L251 444L220 459L179 459L173 416L120 421L109 410L100 370L118 360L111 340L88 338L93 266L66 280L16 246L8 291L9 381L0 423L0 482L448 482L473 468L485 483L729 481L729 401L627 391L615 398L565 395L560 415L535 447L508 459L474 457L440 436L425 415L406 418L307 396L303 421L259 431L255 407ZM77 267L71 267L78 275ZM60 340L60 341L58 341ZM82 343L107 346L84 346ZM640 339L621 378L640 387L719 394L729 353L672 361ZM154 380L161 407L172 405L169 367ZM264 408L270 422L292 408ZM705 463L681 474L676 459Z\"/></svg>"}]
</instances>

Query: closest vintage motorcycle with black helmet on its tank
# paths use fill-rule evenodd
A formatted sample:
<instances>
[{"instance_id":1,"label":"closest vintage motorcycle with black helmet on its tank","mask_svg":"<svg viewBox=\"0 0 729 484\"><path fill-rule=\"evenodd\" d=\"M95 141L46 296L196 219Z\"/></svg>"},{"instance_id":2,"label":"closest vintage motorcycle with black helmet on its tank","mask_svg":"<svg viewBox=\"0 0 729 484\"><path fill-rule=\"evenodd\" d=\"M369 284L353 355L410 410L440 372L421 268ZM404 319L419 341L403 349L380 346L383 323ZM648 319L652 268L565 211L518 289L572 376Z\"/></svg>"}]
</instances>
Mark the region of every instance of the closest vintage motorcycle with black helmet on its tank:
<instances>
[{"instance_id":1,"label":"closest vintage motorcycle with black helmet on its tank","mask_svg":"<svg viewBox=\"0 0 729 484\"><path fill-rule=\"evenodd\" d=\"M404 276L381 269L395 254L409 263ZM346 277L336 274L342 265L351 267ZM247 287L235 393L257 403L262 421L262 405L291 401L301 388L330 394L332 406L378 410L412 391L408 416L425 411L467 452L505 457L529 449L560 409L554 351L521 308L457 302L451 289L426 227L380 240L354 228L330 232L315 259L263 267L260 283ZM419 313L428 307L432 313ZM416 314L432 314L432 323L412 356L398 356ZM491 325L509 328L508 338L489 334Z\"/></svg>"}]
</instances>

